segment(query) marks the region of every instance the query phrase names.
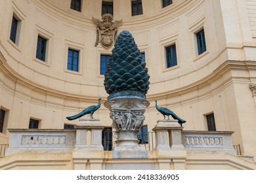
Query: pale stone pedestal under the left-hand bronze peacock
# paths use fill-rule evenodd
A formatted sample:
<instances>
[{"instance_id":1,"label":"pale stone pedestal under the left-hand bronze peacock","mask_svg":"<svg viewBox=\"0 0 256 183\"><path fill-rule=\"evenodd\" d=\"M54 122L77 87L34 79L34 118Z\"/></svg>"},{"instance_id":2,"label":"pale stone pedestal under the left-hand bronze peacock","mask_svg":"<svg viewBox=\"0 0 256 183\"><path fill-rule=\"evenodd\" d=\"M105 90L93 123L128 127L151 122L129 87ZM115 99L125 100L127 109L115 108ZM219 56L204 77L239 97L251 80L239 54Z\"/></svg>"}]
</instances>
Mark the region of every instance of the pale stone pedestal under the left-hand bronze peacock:
<instances>
[{"instance_id":1,"label":"pale stone pedestal under the left-hand bronze peacock","mask_svg":"<svg viewBox=\"0 0 256 183\"><path fill-rule=\"evenodd\" d=\"M75 126L76 129L76 139L75 148L76 149L86 149L86 150L103 150L102 146L102 130L104 126L100 123L98 119L80 119L79 123ZM91 137L88 131L91 131ZM90 139L90 143L87 144L87 139Z\"/></svg>"}]
</instances>

